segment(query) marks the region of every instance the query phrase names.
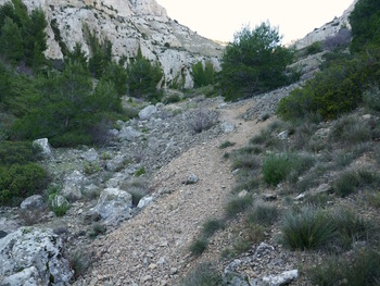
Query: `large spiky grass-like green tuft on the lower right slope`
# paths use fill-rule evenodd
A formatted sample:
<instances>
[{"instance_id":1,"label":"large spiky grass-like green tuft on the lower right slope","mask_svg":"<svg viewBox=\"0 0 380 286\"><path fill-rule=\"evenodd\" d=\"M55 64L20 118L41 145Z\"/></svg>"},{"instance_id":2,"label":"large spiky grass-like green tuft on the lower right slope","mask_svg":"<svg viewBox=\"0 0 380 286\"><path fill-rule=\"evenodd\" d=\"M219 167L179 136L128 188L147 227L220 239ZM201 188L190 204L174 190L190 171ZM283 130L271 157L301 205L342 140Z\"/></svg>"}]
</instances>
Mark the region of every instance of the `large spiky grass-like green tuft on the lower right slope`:
<instances>
[{"instance_id":1,"label":"large spiky grass-like green tuft on the lower right slope","mask_svg":"<svg viewBox=\"0 0 380 286\"><path fill-rule=\"evenodd\" d=\"M291 211L282 220L282 240L291 249L316 249L325 246L334 236L330 215L313 207Z\"/></svg>"}]
</instances>

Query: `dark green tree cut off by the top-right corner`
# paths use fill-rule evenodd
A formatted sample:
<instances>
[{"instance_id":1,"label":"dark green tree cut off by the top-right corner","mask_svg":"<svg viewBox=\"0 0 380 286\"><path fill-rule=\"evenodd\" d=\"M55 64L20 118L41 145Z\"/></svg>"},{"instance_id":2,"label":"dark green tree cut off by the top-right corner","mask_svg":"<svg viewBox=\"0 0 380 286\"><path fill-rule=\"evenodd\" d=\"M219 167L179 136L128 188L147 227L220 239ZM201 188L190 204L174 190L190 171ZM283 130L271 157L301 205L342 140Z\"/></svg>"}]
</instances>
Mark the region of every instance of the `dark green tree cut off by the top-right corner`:
<instances>
[{"instance_id":1,"label":"dark green tree cut off by the top-right corner","mask_svg":"<svg viewBox=\"0 0 380 286\"><path fill-rule=\"evenodd\" d=\"M380 2L359 0L350 14L352 26L351 51L366 50L369 46L380 46Z\"/></svg>"}]
</instances>

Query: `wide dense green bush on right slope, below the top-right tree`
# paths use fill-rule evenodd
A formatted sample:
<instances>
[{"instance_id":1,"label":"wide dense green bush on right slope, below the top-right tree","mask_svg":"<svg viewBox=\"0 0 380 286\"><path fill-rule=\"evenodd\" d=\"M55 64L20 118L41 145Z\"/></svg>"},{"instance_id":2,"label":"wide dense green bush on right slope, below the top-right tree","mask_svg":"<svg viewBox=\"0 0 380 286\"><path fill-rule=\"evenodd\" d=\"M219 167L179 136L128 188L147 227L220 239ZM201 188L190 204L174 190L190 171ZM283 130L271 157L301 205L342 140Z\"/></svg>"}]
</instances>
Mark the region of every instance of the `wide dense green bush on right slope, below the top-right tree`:
<instances>
[{"instance_id":1,"label":"wide dense green bush on right slope, below the top-right tree","mask_svg":"<svg viewBox=\"0 0 380 286\"><path fill-rule=\"evenodd\" d=\"M283 98L277 113L284 120L303 119L311 114L319 114L329 120L354 110L363 101L363 91L377 80L379 60L378 49L360 57L333 62L303 87Z\"/></svg>"}]
</instances>

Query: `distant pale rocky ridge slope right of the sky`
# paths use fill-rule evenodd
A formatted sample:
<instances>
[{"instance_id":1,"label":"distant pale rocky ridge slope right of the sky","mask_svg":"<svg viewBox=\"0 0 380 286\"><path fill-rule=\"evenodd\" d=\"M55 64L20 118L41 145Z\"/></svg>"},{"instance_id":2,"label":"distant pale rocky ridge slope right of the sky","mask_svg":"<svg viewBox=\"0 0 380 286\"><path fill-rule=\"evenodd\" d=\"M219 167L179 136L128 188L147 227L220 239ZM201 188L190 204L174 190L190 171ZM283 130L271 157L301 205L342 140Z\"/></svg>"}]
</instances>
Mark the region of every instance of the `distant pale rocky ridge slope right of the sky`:
<instances>
[{"instance_id":1,"label":"distant pale rocky ridge slope right of the sky","mask_svg":"<svg viewBox=\"0 0 380 286\"><path fill-rule=\"evenodd\" d=\"M351 28L349 16L351 12L354 10L355 4L358 0L354 0L353 3L343 12L343 15L340 17L335 17L331 22L325 24L320 28L316 28L309 34L307 34L301 40L295 42L296 49L303 49L313 42L326 40L329 37L332 37L339 33L339 30L343 27Z\"/></svg>"}]
</instances>

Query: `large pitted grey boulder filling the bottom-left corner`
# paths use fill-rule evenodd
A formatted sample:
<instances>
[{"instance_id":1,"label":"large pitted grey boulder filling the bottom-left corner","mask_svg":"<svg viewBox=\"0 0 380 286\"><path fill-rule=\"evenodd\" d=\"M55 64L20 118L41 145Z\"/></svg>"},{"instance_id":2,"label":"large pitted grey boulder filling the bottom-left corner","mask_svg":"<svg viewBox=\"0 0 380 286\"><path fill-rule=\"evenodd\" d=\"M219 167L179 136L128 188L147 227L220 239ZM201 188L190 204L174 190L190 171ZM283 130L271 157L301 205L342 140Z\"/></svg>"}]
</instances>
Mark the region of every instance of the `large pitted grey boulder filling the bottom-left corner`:
<instances>
[{"instance_id":1,"label":"large pitted grey boulder filling the bottom-left corner","mask_svg":"<svg viewBox=\"0 0 380 286\"><path fill-rule=\"evenodd\" d=\"M50 229L22 227L0 239L1 285L64 285L73 273Z\"/></svg>"}]
</instances>

